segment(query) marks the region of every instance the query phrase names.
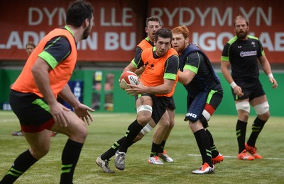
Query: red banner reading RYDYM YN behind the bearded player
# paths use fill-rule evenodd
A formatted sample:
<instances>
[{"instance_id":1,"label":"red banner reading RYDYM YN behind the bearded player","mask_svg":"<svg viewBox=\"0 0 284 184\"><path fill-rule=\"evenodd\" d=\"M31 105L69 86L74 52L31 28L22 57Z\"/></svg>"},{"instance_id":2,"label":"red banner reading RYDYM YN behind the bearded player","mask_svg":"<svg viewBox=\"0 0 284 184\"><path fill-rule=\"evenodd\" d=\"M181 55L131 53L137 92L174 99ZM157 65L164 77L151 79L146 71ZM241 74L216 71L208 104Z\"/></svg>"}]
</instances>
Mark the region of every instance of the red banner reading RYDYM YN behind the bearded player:
<instances>
[{"instance_id":1,"label":"red banner reading RYDYM YN behind the bearded player","mask_svg":"<svg viewBox=\"0 0 284 184\"><path fill-rule=\"evenodd\" d=\"M249 19L249 34L261 40L270 62L284 62L284 1L149 1L152 16L163 26L186 25L190 42L199 45L212 62L219 62L224 44L234 33L234 18Z\"/></svg>"}]
</instances>

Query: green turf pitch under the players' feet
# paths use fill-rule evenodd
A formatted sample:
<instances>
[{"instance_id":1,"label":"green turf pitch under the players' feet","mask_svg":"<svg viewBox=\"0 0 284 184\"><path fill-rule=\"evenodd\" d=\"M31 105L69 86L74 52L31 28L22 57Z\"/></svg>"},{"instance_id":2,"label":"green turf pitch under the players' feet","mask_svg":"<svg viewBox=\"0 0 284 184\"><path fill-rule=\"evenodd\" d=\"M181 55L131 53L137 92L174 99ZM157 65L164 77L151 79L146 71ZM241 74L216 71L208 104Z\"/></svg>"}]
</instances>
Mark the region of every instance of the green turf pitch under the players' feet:
<instances>
[{"instance_id":1,"label":"green turf pitch under the players' feet","mask_svg":"<svg viewBox=\"0 0 284 184\"><path fill-rule=\"evenodd\" d=\"M147 163L151 150L153 131L140 142L133 144L126 155L126 168L119 171L114 158L109 166L114 174L102 173L95 165L97 156L121 138L136 114L92 113L94 122L75 169L74 183L284 183L284 117L271 117L256 142L261 160L236 159L236 116L216 115L209 121L209 130L217 149L224 155L222 163L215 166L215 173L196 176L192 171L201 163L199 150L190 127L183 115L176 115L175 127L165 145L173 163L154 166ZM251 132L250 117L246 139ZM10 168L18 154L28 149L24 137L13 137L11 131L19 130L19 123L12 112L0 111L0 178ZM35 163L16 183L59 183L60 158L67 137L52 137L50 152Z\"/></svg>"}]
</instances>

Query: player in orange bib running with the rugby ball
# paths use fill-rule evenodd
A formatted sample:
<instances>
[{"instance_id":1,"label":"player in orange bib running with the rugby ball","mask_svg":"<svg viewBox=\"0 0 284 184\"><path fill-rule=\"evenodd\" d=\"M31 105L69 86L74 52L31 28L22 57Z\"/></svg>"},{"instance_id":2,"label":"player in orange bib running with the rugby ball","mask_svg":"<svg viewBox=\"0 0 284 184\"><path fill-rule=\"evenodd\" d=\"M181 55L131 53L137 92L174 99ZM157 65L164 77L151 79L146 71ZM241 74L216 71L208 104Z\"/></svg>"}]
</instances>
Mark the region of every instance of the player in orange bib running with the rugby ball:
<instances>
[{"instance_id":1,"label":"player in orange bib running with the rugby ball","mask_svg":"<svg viewBox=\"0 0 284 184\"><path fill-rule=\"evenodd\" d=\"M132 88L126 89L128 93L136 96L137 118L129 125L126 135L116 141L115 146L112 146L113 150L119 148L115 154L115 166L119 170L125 168L127 149L150 120L155 123L161 119L167 123L170 121L166 109L178 81L179 64L178 52L170 45L172 38L170 29L158 29L155 33L155 47L143 50L124 69L124 71L136 71L145 67L145 71L141 74L141 83L138 86L131 85ZM157 154L159 148L158 145L154 147ZM107 164L106 168L109 168L108 162L105 164ZM107 173L113 172L107 171Z\"/></svg>"}]
</instances>

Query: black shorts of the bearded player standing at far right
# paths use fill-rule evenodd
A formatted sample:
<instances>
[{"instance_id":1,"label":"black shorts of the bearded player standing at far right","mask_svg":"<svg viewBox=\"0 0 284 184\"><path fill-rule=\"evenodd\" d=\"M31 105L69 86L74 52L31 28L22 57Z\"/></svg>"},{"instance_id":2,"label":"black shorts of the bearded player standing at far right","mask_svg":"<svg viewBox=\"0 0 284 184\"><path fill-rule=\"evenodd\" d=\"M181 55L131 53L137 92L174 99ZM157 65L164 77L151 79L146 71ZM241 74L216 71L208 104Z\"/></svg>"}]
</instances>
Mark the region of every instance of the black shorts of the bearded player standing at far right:
<instances>
[{"instance_id":1,"label":"black shorts of the bearded player standing at far right","mask_svg":"<svg viewBox=\"0 0 284 184\"><path fill-rule=\"evenodd\" d=\"M261 81L259 79L255 81L238 81L236 80L236 85L241 87L241 90L244 93L244 96L236 96L234 90L231 88L231 93L233 94L234 100L244 100L249 98L249 101L253 100L253 98L257 98L259 96L263 96L266 93L263 90L261 85Z\"/></svg>"}]
</instances>

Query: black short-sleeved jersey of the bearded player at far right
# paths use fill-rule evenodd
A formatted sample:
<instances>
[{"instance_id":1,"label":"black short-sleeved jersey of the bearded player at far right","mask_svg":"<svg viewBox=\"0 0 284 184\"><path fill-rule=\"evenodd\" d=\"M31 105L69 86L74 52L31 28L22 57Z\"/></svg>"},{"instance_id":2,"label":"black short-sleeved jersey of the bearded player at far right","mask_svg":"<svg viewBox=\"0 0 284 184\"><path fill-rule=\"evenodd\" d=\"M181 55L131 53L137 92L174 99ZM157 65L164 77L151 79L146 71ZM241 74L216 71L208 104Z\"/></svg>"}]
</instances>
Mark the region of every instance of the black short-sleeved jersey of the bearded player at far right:
<instances>
[{"instance_id":1,"label":"black short-sleeved jersey of the bearded player at far right","mask_svg":"<svg viewBox=\"0 0 284 184\"><path fill-rule=\"evenodd\" d=\"M261 41L248 35L247 40L239 40L236 36L224 45L222 62L231 63L231 76L234 80L258 79L258 57L264 55Z\"/></svg>"}]
</instances>

